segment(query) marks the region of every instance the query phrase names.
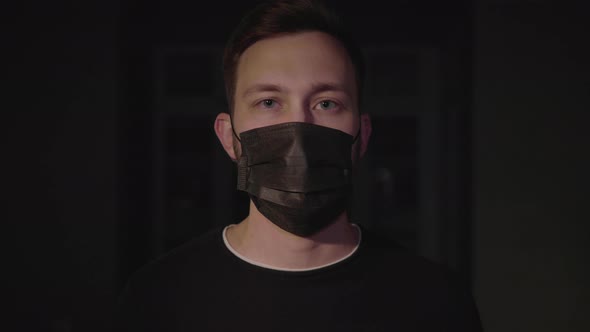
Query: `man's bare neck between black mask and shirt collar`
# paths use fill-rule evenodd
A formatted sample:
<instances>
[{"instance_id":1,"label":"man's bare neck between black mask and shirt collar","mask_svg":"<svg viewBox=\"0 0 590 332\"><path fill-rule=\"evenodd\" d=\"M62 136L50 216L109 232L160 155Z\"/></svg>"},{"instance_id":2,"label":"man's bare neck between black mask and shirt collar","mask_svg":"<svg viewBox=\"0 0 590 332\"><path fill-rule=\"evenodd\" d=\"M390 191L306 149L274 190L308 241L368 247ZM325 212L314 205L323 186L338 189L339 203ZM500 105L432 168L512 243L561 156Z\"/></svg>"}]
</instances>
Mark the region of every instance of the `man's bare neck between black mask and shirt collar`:
<instances>
[{"instance_id":1,"label":"man's bare neck between black mask and shirt collar","mask_svg":"<svg viewBox=\"0 0 590 332\"><path fill-rule=\"evenodd\" d=\"M344 212L319 232L300 237L273 224L250 202L250 214L226 233L229 245L249 260L280 269L309 269L355 250L359 236Z\"/></svg>"}]
</instances>

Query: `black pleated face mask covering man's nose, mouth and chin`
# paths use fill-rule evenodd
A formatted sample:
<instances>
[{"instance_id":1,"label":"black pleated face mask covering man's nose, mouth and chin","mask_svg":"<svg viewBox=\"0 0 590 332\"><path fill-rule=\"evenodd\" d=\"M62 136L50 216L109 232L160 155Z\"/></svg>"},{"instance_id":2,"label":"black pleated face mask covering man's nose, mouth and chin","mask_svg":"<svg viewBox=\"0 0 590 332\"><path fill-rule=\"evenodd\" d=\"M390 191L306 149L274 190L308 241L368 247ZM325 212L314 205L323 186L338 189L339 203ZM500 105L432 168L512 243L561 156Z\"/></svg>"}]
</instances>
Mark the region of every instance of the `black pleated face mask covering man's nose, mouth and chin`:
<instances>
[{"instance_id":1,"label":"black pleated face mask covering man's nose, mouth and chin","mask_svg":"<svg viewBox=\"0 0 590 332\"><path fill-rule=\"evenodd\" d=\"M275 225L309 236L346 210L356 138L304 122L256 128L240 138L238 190Z\"/></svg>"}]
</instances>

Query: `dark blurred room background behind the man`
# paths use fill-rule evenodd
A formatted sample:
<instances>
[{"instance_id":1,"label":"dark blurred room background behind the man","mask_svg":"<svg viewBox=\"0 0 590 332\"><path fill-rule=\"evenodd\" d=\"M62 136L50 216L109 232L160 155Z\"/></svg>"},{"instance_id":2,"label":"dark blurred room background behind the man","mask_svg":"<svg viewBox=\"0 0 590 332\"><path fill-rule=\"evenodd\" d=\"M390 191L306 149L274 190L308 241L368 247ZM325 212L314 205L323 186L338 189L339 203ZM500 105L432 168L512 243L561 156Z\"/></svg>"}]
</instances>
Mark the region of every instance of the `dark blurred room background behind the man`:
<instances>
[{"instance_id":1,"label":"dark blurred room background behind the man","mask_svg":"<svg viewBox=\"0 0 590 332\"><path fill-rule=\"evenodd\" d=\"M212 131L218 55L252 6L236 3L2 11L2 330L102 331L130 273L244 216ZM355 219L469 280L486 331L590 330L587 11L337 9L368 56L375 127Z\"/></svg>"}]
</instances>

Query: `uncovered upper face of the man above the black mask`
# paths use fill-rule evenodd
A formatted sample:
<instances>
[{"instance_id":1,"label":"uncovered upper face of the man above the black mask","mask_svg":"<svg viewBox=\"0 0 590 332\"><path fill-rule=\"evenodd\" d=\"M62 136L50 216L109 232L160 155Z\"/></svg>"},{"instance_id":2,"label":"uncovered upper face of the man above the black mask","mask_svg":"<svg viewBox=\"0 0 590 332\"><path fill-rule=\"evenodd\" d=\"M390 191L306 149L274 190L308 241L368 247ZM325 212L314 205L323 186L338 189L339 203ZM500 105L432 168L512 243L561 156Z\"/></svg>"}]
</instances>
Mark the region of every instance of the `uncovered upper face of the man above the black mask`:
<instances>
[{"instance_id":1,"label":"uncovered upper face of the man above the black mask","mask_svg":"<svg viewBox=\"0 0 590 332\"><path fill-rule=\"evenodd\" d=\"M241 55L233 129L239 135L284 122L308 122L357 135L361 123L355 68L332 36L316 31L277 36L256 42ZM226 151L237 159L237 140L232 137L234 151L229 151L227 134L221 136Z\"/></svg>"}]
</instances>

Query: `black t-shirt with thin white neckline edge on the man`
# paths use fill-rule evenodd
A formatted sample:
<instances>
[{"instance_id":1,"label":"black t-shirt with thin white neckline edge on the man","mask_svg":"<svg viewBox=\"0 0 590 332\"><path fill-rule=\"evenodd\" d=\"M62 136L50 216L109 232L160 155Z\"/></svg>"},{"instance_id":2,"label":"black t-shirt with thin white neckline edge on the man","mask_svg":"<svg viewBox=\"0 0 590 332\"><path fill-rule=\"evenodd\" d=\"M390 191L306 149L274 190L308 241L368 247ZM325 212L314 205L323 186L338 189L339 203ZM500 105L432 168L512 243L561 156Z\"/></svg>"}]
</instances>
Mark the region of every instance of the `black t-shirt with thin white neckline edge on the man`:
<instances>
[{"instance_id":1,"label":"black t-shirt with thin white neckline edge on the man","mask_svg":"<svg viewBox=\"0 0 590 332\"><path fill-rule=\"evenodd\" d=\"M319 269L247 263L223 230L148 264L129 280L117 331L481 331L447 269L362 231L358 249Z\"/></svg>"}]
</instances>

